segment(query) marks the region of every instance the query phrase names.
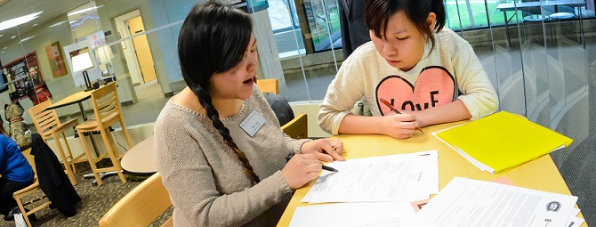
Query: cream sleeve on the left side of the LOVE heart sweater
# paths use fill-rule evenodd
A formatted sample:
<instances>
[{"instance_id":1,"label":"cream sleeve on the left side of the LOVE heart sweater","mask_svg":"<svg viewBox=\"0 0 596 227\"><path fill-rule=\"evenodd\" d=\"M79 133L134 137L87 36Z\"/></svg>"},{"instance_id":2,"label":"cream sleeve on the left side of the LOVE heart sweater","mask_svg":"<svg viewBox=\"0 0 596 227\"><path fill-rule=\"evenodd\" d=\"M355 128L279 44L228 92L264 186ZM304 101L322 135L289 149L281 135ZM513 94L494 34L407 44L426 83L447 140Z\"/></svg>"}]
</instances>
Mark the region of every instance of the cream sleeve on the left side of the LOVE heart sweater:
<instances>
[{"instance_id":1,"label":"cream sleeve on the left side of the LOVE heart sweater","mask_svg":"<svg viewBox=\"0 0 596 227\"><path fill-rule=\"evenodd\" d=\"M323 102L318 105L318 125L329 134L339 134L343 118L365 94L358 53L352 53L331 81Z\"/></svg>"}]
</instances>

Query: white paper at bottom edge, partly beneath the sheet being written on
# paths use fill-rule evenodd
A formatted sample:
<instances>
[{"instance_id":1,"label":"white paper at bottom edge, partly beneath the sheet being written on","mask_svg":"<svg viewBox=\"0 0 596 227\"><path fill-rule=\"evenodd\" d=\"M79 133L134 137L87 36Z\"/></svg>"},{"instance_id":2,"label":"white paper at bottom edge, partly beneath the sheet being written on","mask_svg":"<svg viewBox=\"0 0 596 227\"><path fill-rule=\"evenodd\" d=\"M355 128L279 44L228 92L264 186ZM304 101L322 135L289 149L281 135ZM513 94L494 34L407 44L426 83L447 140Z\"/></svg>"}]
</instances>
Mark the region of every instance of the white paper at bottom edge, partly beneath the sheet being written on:
<instances>
[{"instance_id":1,"label":"white paper at bottom edge, partly beneath the sheet being written on","mask_svg":"<svg viewBox=\"0 0 596 227\"><path fill-rule=\"evenodd\" d=\"M338 203L296 207L290 227L407 226L414 209L407 202ZM322 215L322 216L321 216Z\"/></svg>"}]
</instances>

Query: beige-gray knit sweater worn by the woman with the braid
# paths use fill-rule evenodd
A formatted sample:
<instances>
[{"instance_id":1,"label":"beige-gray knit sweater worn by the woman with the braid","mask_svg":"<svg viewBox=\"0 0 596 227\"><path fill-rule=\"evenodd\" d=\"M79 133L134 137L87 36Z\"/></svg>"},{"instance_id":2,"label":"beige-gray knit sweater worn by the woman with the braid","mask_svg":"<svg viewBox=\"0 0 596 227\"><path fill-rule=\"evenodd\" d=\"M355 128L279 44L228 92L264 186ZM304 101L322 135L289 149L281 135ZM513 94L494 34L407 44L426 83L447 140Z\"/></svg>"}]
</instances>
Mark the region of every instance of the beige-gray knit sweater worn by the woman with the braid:
<instances>
[{"instance_id":1,"label":"beige-gray knit sweater worn by the woman with the braid","mask_svg":"<svg viewBox=\"0 0 596 227\"><path fill-rule=\"evenodd\" d=\"M251 137L239 124L253 109L266 123ZM221 121L261 182L251 186L238 156L209 118L168 101L157 118L154 146L174 226L274 226L292 195L280 170L285 157L300 152L306 140L282 133L256 86L240 112Z\"/></svg>"}]
</instances>

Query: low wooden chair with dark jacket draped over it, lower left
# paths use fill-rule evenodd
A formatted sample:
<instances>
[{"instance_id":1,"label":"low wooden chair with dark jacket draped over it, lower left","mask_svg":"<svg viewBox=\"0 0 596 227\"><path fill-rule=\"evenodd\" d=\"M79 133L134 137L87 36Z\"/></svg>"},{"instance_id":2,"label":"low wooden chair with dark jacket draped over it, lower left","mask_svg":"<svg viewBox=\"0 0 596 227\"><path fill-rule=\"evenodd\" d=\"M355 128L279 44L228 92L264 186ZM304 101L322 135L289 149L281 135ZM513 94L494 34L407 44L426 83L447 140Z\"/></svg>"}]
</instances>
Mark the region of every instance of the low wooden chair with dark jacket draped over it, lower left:
<instances>
[{"instance_id":1,"label":"low wooden chair with dark jacket draped over it, lower left","mask_svg":"<svg viewBox=\"0 0 596 227\"><path fill-rule=\"evenodd\" d=\"M12 193L12 198L14 198L14 200L17 201L17 205L19 205L19 209L20 209L20 214L23 214L23 219L25 219L25 223L27 223L27 226L29 226L29 227L31 227L31 222L29 221L28 216L33 213L36 213L37 211L43 209L44 207L49 207L50 204L52 204L52 202L50 202L48 200L48 201L44 202L42 205L40 205L39 207L35 207L35 208L29 210L28 212L25 211L25 206L28 206L29 204L32 204L33 202L35 202L37 200L46 198L45 194L42 192L41 197L31 199L28 202L23 202L23 199L25 199L26 196L42 190L39 187L39 181L37 181L36 165L35 165L35 161L33 160L33 156L31 154L29 154L30 152L31 152L31 149L28 149L28 150L22 151L22 154L25 156L25 158L27 158L29 165L31 165L33 167L33 174L34 174L33 183L31 185L29 185L27 188L24 188L24 189L21 189L20 191L15 191L14 193Z\"/></svg>"}]
</instances>

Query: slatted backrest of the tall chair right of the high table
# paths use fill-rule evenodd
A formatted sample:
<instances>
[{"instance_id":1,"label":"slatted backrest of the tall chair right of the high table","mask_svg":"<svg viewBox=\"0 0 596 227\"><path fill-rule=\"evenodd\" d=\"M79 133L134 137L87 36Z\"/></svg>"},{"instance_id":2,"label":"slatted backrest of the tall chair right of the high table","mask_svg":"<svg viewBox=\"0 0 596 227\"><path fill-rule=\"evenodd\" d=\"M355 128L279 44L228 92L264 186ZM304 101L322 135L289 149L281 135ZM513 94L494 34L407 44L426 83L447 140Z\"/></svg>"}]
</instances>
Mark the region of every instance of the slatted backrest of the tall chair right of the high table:
<instances>
[{"instance_id":1,"label":"slatted backrest of the tall chair right of the high table","mask_svg":"<svg viewBox=\"0 0 596 227\"><path fill-rule=\"evenodd\" d=\"M91 92L91 99L95 119L99 124L103 122L103 119L110 118L112 115L122 115L116 91L116 82L111 82Z\"/></svg>"}]
</instances>

